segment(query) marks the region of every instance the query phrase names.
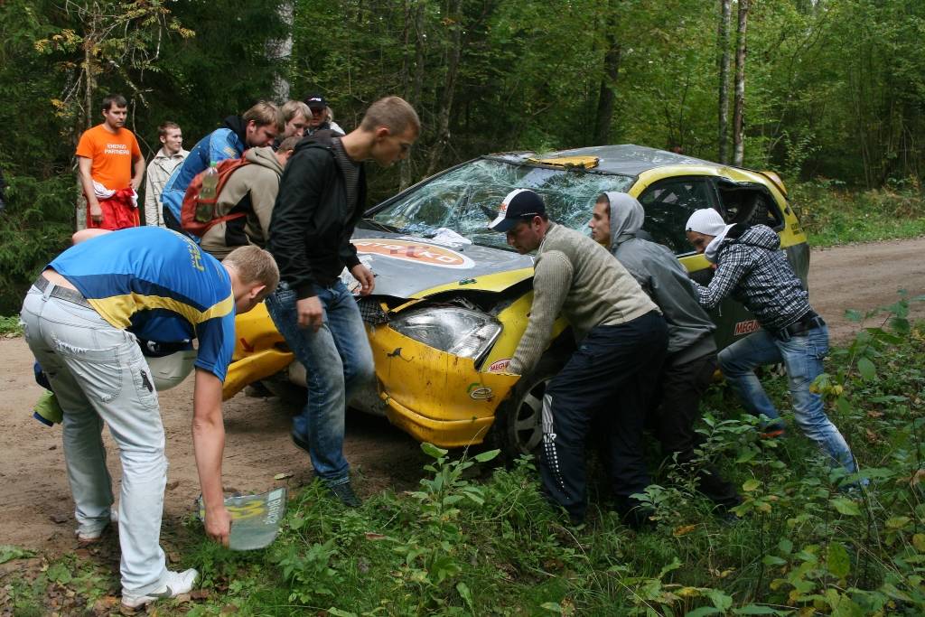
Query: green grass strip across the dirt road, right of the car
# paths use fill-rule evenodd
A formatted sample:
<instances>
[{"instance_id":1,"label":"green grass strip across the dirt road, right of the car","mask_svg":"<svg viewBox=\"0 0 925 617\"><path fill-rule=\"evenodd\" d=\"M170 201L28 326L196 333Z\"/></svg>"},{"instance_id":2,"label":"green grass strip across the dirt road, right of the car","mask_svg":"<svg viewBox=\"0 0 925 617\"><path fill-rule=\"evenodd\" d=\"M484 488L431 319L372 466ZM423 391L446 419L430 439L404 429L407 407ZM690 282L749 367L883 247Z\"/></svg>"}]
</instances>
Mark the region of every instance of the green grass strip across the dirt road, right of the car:
<instances>
[{"instance_id":1,"label":"green grass strip across the dirt road, right of the car","mask_svg":"<svg viewBox=\"0 0 925 617\"><path fill-rule=\"evenodd\" d=\"M790 193L810 246L925 235L925 198L917 185L846 191L835 181L796 184Z\"/></svg>"}]
</instances>

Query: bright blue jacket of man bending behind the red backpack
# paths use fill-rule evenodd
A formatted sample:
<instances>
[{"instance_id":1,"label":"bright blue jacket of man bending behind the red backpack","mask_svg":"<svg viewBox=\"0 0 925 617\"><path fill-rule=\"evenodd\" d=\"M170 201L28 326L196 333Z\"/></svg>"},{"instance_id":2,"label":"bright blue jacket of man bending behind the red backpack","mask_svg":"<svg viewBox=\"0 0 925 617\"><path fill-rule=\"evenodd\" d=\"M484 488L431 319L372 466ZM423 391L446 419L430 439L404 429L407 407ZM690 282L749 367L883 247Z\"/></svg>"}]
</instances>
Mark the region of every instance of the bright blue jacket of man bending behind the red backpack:
<instances>
[{"instance_id":1,"label":"bright blue jacket of man bending behind the red backpack","mask_svg":"<svg viewBox=\"0 0 925 617\"><path fill-rule=\"evenodd\" d=\"M176 227L171 228L179 230L179 212L183 205L183 195L196 174L205 171L212 161L217 163L227 158L240 158L240 155L244 154L247 147L246 128L247 124L240 116L228 116L225 118L224 127L213 130L192 146L190 154L174 169L164 185L164 192L161 193L165 222L169 223L167 227L173 224ZM167 214L173 216L176 222L170 221Z\"/></svg>"}]
</instances>

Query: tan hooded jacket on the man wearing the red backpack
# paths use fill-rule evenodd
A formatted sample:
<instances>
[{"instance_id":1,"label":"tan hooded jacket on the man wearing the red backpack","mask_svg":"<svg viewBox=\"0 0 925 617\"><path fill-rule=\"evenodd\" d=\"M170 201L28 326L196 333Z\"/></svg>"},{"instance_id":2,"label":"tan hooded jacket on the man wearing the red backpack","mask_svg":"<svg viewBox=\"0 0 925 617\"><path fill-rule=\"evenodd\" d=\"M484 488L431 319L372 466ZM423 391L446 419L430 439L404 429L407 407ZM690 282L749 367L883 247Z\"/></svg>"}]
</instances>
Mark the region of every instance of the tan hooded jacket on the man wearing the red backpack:
<instances>
[{"instance_id":1,"label":"tan hooded jacket on the man wearing the red backpack","mask_svg":"<svg viewBox=\"0 0 925 617\"><path fill-rule=\"evenodd\" d=\"M218 193L216 215L243 213L246 216L218 223L203 235L203 251L225 259L239 246L265 246L270 237L270 217L277 201L283 166L273 148L251 148L244 152L251 163L232 172Z\"/></svg>"}]
</instances>

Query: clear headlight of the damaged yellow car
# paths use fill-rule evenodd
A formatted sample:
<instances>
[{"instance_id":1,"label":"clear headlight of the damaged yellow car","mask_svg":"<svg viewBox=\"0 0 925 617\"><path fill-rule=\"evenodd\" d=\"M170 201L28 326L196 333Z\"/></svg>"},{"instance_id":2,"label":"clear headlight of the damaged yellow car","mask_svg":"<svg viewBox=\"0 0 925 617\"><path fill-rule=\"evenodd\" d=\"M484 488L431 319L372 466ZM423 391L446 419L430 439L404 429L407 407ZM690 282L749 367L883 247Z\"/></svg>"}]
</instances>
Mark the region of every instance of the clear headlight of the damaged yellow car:
<instances>
[{"instance_id":1,"label":"clear headlight of the damaged yellow car","mask_svg":"<svg viewBox=\"0 0 925 617\"><path fill-rule=\"evenodd\" d=\"M501 333L501 322L491 315L456 306L411 310L393 317L389 326L441 352L472 358L475 364Z\"/></svg>"}]
</instances>

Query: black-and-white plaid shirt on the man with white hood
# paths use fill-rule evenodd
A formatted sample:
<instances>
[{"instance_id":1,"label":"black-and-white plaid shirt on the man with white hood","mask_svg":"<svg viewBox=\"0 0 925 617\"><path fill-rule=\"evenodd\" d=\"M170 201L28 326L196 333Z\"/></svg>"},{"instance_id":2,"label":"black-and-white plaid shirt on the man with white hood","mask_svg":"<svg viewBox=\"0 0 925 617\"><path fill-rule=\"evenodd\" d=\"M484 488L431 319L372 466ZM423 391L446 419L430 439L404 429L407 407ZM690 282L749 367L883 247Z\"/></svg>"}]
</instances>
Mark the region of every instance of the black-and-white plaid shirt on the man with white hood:
<instances>
[{"instance_id":1,"label":"black-and-white plaid shirt on the man with white hood","mask_svg":"<svg viewBox=\"0 0 925 617\"><path fill-rule=\"evenodd\" d=\"M746 228L732 237L736 230L731 229L722 241L709 286L694 283L697 301L709 310L732 295L755 314L764 329L790 326L811 309L807 290L779 250L781 239L766 225Z\"/></svg>"}]
</instances>

